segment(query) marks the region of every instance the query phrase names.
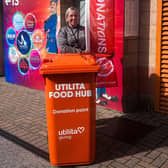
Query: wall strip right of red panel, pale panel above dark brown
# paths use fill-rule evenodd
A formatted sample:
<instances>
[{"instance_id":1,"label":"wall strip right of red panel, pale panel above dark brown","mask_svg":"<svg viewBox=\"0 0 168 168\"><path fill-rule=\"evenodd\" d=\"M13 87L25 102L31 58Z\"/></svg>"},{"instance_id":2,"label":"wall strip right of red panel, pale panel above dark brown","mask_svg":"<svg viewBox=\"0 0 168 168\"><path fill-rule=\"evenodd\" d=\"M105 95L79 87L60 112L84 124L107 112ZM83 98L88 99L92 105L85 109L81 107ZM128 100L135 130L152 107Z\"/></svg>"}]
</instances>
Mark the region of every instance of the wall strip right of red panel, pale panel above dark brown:
<instances>
[{"instance_id":1,"label":"wall strip right of red panel, pale panel above dark brown","mask_svg":"<svg viewBox=\"0 0 168 168\"><path fill-rule=\"evenodd\" d=\"M134 111L138 103L139 0L125 0L123 106Z\"/></svg>"}]
</instances>

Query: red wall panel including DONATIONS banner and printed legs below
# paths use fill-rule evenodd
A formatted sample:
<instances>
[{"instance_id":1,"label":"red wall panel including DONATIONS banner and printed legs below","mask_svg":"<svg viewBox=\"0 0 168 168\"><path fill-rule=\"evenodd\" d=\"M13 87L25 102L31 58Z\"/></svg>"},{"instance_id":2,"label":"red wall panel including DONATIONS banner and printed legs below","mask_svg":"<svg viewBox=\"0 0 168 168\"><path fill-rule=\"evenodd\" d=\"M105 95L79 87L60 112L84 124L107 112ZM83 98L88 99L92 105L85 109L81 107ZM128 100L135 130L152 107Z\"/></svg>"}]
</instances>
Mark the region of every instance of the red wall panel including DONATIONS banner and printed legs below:
<instances>
[{"instance_id":1,"label":"red wall panel including DONATIONS banner and printed legs below","mask_svg":"<svg viewBox=\"0 0 168 168\"><path fill-rule=\"evenodd\" d=\"M86 46L101 67L96 103L123 111L124 0L86 0L86 7Z\"/></svg>"}]
</instances>

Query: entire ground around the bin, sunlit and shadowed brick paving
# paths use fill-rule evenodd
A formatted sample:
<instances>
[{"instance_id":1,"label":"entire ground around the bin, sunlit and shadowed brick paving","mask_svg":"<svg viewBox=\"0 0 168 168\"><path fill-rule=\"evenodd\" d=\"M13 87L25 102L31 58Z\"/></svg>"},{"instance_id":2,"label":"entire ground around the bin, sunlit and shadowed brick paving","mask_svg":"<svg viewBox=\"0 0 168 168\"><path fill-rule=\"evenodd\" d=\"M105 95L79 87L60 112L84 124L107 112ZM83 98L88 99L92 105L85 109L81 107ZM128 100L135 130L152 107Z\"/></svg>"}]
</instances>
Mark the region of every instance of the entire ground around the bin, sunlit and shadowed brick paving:
<instances>
[{"instance_id":1,"label":"entire ground around the bin, sunlit and shadowed brick paving","mask_svg":"<svg viewBox=\"0 0 168 168\"><path fill-rule=\"evenodd\" d=\"M0 77L0 167L48 168L45 93ZM168 168L168 114L97 106L96 159L75 168Z\"/></svg>"}]
</instances>

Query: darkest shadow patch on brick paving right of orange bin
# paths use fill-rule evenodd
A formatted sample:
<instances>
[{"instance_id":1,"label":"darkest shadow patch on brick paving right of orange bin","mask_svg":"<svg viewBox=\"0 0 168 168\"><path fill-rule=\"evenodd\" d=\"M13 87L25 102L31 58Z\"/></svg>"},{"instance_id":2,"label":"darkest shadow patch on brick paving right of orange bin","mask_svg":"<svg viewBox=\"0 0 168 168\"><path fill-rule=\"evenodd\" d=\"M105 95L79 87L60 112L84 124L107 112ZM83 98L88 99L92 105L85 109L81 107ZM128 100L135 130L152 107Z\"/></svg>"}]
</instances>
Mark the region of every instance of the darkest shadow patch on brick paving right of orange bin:
<instances>
[{"instance_id":1,"label":"darkest shadow patch on brick paving right of orange bin","mask_svg":"<svg viewBox=\"0 0 168 168\"><path fill-rule=\"evenodd\" d=\"M122 117L101 119L97 121L98 133L130 145L135 145L154 129L154 126Z\"/></svg>"}]
</instances>

